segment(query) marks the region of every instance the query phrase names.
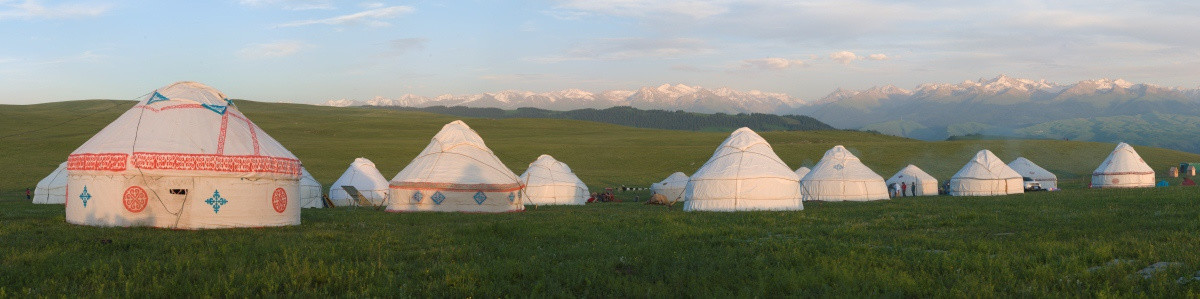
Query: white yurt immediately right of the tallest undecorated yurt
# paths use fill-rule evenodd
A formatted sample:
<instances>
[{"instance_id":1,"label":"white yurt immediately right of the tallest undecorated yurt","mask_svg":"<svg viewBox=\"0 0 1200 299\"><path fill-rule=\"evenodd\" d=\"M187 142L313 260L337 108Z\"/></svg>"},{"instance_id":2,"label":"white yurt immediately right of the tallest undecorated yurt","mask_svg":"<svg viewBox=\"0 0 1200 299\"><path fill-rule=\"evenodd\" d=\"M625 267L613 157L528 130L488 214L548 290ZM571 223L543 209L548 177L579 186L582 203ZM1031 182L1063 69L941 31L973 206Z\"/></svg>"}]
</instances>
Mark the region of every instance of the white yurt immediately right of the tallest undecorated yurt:
<instances>
[{"instance_id":1,"label":"white yurt immediately right of the tallest undecorated yurt","mask_svg":"<svg viewBox=\"0 0 1200 299\"><path fill-rule=\"evenodd\" d=\"M836 145L826 151L809 174L800 178L804 201L863 202L888 199L888 186L883 177L863 165L845 146Z\"/></svg>"}]
</instances>

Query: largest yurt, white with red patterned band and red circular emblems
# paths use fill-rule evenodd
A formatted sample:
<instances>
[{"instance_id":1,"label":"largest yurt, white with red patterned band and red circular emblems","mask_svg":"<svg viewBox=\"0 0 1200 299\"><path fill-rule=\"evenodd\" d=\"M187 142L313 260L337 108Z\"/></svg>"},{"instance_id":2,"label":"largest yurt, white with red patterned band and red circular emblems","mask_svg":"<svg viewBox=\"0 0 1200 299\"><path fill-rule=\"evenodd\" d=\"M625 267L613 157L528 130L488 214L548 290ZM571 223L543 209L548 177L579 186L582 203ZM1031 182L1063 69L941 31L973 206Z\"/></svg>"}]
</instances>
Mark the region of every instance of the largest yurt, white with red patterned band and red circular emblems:
<instances>
[{"instance_id":1,"label":"largest yurt, white with red patterned band and red circular emblems","mask_svg":"<svg viewBox=\"0 0 1200 299\"><path fill-rule=\"evenodd\" d=\"M71 223L300 225L300 160L194 82L150 92L71 153L67 173Z\"/></svg>"}]
</instances>

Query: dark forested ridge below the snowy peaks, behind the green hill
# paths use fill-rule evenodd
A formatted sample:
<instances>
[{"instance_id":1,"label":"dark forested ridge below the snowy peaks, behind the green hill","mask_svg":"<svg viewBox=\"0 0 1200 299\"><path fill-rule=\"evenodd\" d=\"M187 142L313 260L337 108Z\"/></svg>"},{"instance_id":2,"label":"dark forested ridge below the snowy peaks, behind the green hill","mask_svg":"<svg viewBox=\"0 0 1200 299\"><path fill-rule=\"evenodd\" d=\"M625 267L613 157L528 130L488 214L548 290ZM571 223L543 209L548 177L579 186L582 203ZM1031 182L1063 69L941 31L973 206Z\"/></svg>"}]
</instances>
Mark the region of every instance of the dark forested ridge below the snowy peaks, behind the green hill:
<instances>
[{"instance_id":1,"label":"dark forested ridge below the snowy peaks, behind the green hill","mask_svg":"<svg viewBox=\"0 0 1200 299\"><path fill-rule=\"evenodd\" d=\"M517 108L505 110L499 108L470 108L470 107L445 107L433 106L424 108L414 107L382 107L397 110L420 110L438 114L449 114L469 118L510 119L571 119L606 122L631 127L665 128L683 131L720 131L728 132L738 127L750 127L755 131L814 131L834 130L834 127L821 122L814 118L804 115L775 115L775 114L704 114L690 112L666 112L666 110L642 110L631 107L612 107L606 109L576 109L566 112L546 110L538 108Z\"/></svg>"}]
</instances>

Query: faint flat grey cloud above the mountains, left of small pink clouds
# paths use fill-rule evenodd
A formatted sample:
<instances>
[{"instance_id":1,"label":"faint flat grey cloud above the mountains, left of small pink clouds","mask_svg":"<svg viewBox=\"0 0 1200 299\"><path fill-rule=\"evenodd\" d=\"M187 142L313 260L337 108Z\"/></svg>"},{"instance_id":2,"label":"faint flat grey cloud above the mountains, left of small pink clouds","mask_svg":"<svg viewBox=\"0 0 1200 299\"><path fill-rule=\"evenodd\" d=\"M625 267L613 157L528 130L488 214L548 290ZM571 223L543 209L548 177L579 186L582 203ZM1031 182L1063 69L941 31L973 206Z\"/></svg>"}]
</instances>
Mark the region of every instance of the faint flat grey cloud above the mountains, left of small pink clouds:
<instances>
[{"instance_id":1,"label":"faint flat grey cloud above the mountains, left of small pink clouds","mask_svg":"<svg viewBox=\"0 0 1200 299\"><path fill-rule=\"evenodd\" d=\"M572 60L630 60L642 58L672 59L712 53L713 49L697 38L600 38L578 44L564 55L532 59L539 62Z\"/></svg>"}]
</instances>

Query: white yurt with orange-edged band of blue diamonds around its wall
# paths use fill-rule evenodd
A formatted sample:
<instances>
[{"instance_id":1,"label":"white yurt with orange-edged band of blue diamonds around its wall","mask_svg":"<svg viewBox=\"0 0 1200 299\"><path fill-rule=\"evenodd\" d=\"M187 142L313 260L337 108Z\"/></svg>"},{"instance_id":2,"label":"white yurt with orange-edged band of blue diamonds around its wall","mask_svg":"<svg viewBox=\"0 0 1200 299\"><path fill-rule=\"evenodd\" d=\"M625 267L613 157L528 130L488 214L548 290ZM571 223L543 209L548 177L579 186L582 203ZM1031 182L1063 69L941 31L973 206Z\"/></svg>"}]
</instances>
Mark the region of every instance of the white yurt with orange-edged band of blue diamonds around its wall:
<instances>
[{"instance_id":1,"label":"white yurt with orange-edged band of blue diamonds around its wall","mask_svg":"<svg viewBox=\"0 0 1200 299\"><path fill-rule=\"evenodd\" d=\"M524 210L521 179L462 120L443 126L390 184L388 211Z\"/></svg>"}]
</instances>

